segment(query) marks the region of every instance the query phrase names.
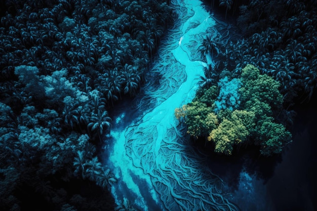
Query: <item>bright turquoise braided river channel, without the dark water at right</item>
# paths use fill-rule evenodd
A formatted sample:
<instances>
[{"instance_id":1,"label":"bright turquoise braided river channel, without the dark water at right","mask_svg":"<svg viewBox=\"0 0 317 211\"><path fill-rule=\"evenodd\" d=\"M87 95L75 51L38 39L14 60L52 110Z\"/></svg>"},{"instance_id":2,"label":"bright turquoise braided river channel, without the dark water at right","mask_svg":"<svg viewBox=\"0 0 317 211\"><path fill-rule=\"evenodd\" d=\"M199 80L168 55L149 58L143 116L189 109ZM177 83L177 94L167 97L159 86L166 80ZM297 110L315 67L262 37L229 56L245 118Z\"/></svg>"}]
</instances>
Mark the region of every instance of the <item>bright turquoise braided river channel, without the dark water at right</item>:
<instances>
[{"instance_id":1,"label":"bright turquoise braided river channel, without the dark water at right","mask_svg":"<svg viewBox=\"0 0 317 211\"><path fill-rule=\"evenodd\" d=\"M118 108L113 119L106 158L117 179L111 192L117 204L129 201L140 210L239 210L174 116L193 99L207 65L195 59L197 40L216 35L219 23L200 1L172 1L171 7L178 19L161 40L146 85L131 109Z\"/></svg>"}]
</instances>

